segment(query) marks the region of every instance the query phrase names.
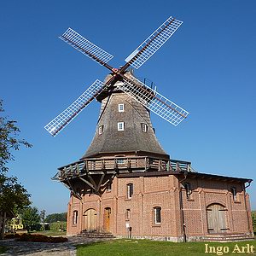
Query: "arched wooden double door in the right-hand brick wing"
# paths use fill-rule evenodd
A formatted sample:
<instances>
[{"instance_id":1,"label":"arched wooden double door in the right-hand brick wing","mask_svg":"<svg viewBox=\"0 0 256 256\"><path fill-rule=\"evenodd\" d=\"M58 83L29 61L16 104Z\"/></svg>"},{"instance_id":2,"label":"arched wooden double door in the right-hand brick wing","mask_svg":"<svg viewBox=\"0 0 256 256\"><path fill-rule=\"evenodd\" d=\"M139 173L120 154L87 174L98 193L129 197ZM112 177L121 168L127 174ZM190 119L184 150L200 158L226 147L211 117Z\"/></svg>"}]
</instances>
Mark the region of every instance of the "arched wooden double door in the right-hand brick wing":
<instances>
[{"instance_id":1,"label":"arched wooden double door in the right-hand brick wing","mask_svg":"<svg viewBox=\"0 0 256 256\"><path fill-rule=\"evenodd\" d=\"M220 204L207 207L207 224L209 233L224 233L228 230L226 208Z\"/></svg>"}]
</instances>

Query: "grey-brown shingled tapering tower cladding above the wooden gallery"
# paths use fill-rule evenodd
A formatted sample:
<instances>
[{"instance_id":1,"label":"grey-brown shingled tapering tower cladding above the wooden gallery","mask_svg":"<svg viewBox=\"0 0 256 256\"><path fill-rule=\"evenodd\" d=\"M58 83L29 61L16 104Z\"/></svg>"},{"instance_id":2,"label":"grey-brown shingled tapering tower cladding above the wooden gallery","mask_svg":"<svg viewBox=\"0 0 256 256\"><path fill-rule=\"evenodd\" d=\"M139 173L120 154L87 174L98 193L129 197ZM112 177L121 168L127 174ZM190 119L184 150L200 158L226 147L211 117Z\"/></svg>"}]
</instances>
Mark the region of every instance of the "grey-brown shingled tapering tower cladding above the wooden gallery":
<instances>
[{"instance_id":1,"label":"grey-brown shingled tapering tower cladding above the wooden gallery","mask_svg":"<svg viewBox=\"0 0 256 256\"><path fill-rule=\"evenodd\" d=\"M160 154L169 158L155 137L147 108L117 89L101 101L102 108L96 133L82 158L127 152L139 155ZM124 112L119 112L119 104L125 104ZM124 131L118 131L119 122L124 122ZM147 132L143 132L142 124L147 125ZM100 126L103 129L101 135Z\"/></svg>"}]
</instances>

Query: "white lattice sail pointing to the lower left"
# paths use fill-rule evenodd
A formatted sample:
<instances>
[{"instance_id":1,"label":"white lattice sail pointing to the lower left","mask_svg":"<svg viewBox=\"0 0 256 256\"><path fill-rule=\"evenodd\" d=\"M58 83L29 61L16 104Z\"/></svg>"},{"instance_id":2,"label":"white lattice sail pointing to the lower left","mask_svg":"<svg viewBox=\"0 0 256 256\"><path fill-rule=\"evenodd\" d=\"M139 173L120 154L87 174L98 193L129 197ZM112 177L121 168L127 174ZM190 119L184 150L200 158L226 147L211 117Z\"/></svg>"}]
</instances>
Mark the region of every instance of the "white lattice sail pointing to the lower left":
<instances>
[{"instance_id":1,"label":"white lattice sail pointing to the lower left","mask_svg":"<svg viewBox=\"0 0 256 256\"><path fill-rule=\"evenodd\" d=\"M67 126L82 109L87 107L93 99L98 96L103 88L106 86L102 81L96 79L96 81L90 85L90 87L84 91L69 107L61 112L55 119L51 120L49 124L44 128L52 136L56 136L65 126Z\"/></svg>"}]
</instances>

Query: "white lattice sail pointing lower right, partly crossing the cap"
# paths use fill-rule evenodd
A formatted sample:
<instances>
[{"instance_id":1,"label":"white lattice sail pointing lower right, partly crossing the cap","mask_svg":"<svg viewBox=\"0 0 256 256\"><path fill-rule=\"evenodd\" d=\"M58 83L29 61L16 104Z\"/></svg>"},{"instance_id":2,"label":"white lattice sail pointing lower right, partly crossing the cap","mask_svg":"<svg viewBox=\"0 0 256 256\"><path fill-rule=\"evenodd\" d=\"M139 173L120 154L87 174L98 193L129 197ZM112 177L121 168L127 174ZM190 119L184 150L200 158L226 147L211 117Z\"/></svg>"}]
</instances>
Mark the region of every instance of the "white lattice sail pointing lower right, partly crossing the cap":
<instances>
[{"instance_id":1,"label":"white lattice sail pointing lower right, partly crossing the cap","mask_svg":"<svg viewBox=\"0 0 256 256\"><path fill-rule=\"evenodd\" d=\"M124 79L123 83L118 84L118 87L120 90L132 96L137 102L143 104L144 107L156 113L161 118L166 119L167 122L174 126L177 126L189 114L188 111L177 106L177 104L152 90L134 77Z\"/></svg>"}]
</instances>

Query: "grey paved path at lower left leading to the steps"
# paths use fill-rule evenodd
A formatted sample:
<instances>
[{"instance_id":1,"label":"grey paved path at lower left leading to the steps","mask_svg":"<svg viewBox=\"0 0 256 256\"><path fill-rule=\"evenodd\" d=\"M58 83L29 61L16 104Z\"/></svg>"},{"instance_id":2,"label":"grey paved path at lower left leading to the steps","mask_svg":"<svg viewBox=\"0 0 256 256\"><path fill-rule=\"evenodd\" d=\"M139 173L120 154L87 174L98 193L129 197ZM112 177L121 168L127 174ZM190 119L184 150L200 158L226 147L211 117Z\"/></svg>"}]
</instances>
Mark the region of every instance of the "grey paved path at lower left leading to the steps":
<instances>
[{"instance_id":1,"label":"grey paved path at lower left leading to the steps","mask_svg":"<svg viewBox=\"0 0 256 256\"><path fill-rule=\"evenodd\" d=\"M68 241L60 243L15 241L15 239L0 240L0 246L8 247L7 253L1 256L30 255L30 256L76 256L75 245L101 241L96 238L69 236Z\"/></svg>"}]
</instances>

